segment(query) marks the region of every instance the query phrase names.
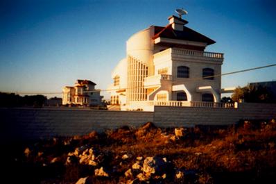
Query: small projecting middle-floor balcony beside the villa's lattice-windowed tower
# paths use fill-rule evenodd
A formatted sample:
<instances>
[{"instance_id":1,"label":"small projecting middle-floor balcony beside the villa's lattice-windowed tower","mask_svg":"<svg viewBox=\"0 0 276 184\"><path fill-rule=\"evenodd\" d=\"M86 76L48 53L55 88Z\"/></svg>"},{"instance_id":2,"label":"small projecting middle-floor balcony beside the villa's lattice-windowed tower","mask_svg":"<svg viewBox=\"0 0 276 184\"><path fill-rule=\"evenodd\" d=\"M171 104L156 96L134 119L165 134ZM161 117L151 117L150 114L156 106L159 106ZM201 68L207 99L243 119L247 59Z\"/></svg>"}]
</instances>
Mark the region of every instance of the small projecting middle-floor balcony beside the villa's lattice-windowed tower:
<instances>
[{"instance_id":1,"label":"small projecting middle-floor balcony beside the villa's lattice-windowed tower","mask_svg":"<svg viewBox=\"0 0 276 184\"><path fill-rule=\"evenodd\" d=\"M172 76L166 74L148 76L144 79L144 88L158 87L163 81L171 81L171 79Z\"/></svg>"}]
</instances>

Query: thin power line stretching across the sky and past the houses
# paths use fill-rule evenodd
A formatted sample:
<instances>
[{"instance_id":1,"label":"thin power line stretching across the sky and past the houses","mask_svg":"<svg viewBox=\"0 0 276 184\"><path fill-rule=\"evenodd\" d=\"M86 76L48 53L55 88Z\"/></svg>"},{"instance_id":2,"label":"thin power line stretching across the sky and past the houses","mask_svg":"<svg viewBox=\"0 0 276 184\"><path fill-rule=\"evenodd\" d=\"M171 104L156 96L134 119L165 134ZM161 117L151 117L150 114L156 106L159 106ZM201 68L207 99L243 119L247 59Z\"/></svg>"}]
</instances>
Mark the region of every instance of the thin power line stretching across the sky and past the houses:
<instances>
[{"instance_id":1,"label":"thin power line stretching across the sky and past the houses","mask_svg":"<svg viewBox=\"0 0 276 184\"><path fill-rule=\"evenodd\" d=\"M275 67L276 64L273 65L265 65L262 67L254 67L254 68L250 68L250 69L242 69L242 70L238 70L238 71L234 71L234 72L227 72L225 74L217 74L217 75L213 75L213 76L205 76L205 77L200 77L200 78L185 78L188 80L202 80L205 78L213 78L213 77L219 77L219 76L227 76L227 75L232 75L232 74L237 74L237 73L242 73L242 72L249 72L252 70L256 70L256 69L263 69L263 68L267 68L267 67ZM142 87L149 87L151 85L143 85ZM126 87L126 88L121 88L121 89L117 89L117 90L125 90L125 89L130 89L130 87ZM114 89L112 90L91 90L91 91L85 91L85 93L89 93L89 92L108 92L108 91L114 91ZM6 92L6 93L12 93L12 92ZM13 92L15 94L62 94L62 92Z\"/></svg>"}]
</instances>

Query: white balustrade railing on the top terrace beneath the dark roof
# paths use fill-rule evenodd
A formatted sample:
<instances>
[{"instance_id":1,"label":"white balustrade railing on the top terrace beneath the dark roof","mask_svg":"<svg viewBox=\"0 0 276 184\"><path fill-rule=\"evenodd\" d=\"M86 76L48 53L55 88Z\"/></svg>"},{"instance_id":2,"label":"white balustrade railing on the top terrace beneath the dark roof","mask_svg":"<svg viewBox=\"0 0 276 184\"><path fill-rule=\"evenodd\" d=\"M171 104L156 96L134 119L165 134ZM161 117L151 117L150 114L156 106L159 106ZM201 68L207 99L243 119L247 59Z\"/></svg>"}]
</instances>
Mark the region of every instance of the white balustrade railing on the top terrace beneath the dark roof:
<instances>
[{"instance_id":1,"label":"white balustrade railing on the top terrace beneath the dark roof","mask_svg":"<svg viewBox=\"0 0 276 184\"><path fill-rule=\"evenodd\" d=\"M186 50L186 49L172 49L171 53L187 55L187 56L202 56L202 57L207 57L207 58L220 58L220 59L223 59L223 53L194 51L194 50Z\"/></svg>"}]
</instances>

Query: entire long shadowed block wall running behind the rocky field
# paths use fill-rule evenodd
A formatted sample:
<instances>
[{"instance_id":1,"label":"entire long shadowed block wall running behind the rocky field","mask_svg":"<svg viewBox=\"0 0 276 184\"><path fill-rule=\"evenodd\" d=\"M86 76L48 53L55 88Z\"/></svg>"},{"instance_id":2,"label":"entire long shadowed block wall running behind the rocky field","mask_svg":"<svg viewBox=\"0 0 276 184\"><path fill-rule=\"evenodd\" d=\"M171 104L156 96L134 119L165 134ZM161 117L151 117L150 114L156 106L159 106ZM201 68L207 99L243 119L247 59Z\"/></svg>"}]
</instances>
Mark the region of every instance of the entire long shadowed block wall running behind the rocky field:
<instances>
[{"instance_id":1,"label":"entire long shadowed block wall running behind the rocky field","mask_svg":"<svg viewBox=\"0 0 276 184\"><path fill-rule=\"evenodd\" d=\"M160 127L234 124L239 119L276 117L276 104L240 103L239 108L155 106L155 112L62 108L0 108L0 142L84 135L127 125L154 122Z\"/></svg>"}]
</instances>

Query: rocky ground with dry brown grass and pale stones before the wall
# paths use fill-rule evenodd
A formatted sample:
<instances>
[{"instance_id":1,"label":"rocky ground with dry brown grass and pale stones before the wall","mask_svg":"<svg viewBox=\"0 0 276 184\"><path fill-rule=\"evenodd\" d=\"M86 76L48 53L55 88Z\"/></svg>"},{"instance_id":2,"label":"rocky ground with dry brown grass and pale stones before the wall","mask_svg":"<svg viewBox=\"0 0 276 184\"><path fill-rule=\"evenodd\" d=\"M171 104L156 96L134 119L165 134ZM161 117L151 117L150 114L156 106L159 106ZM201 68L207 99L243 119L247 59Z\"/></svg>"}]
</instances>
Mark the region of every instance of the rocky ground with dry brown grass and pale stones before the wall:
<instances>
[{"instance_id":1,"label":"rocky ground with dry brown grass and pale stones before the wall","mask_svg":"<svg viewBox=\"0 0 276 184\"><path fill-rule=\"evenodd\" d=\"M122 127L2 145L9 183L274 183L276 122ZM4 181L3 180L3 181Z\"/></svg>"}]
</instances>

